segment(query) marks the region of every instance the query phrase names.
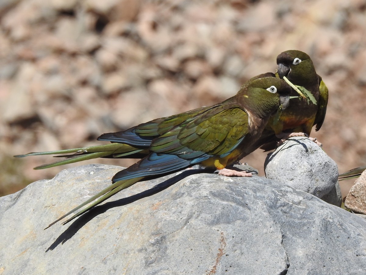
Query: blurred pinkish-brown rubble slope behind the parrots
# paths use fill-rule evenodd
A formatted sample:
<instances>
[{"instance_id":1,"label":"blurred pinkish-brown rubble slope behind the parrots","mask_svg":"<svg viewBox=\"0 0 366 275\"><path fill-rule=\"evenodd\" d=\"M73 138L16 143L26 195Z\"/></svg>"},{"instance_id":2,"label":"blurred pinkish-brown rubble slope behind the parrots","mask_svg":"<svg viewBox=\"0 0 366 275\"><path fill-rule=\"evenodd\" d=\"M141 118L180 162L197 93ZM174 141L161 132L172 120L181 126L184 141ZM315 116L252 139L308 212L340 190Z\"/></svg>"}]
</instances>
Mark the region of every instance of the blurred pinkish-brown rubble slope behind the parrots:
<instances>
[{"instance_id":1,"label":"blurred pinkish-brown rubble slope behind the parrots","mask_svg":"<svg viewBox=\"0 0 366 275\"><path fill-rule=\"evenodd\" d=\"M287 49L308 53L329 88L311 136L340 172L365 165L365 31L365 0L2 0L0 195L81 165L33 170L52 157L13 155L101 144L101 133L220 102ZM243 161L263 176L265 158ZM133 161L82 164L93 162Z\"/></svg>"}]
</instances>

